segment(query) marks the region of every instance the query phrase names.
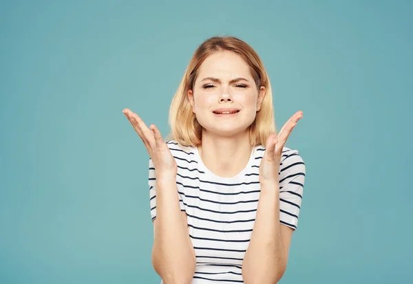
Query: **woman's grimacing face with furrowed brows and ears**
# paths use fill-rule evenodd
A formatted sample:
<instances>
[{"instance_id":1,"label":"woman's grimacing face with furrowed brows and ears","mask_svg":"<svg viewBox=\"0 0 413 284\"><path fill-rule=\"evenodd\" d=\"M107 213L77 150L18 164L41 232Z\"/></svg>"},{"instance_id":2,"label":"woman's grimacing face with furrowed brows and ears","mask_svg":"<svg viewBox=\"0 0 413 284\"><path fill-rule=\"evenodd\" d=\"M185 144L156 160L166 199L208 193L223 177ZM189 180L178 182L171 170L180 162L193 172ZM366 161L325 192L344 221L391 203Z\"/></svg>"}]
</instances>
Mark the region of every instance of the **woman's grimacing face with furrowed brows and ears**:
<instances>
[{"instance_id":1,"label":"woman's grimacing face with furrowed brows and ears","mask_svg":"<svg viewBox=\"0 0 413 284\"><path fill-rule=\"evenodd\" d=\"M205 59L193 89L188 91L193 113L204 131L226 137L248 129L264 95L265 88L258 91L248 64L229 51Z\"/></svg>"}]
</instances>

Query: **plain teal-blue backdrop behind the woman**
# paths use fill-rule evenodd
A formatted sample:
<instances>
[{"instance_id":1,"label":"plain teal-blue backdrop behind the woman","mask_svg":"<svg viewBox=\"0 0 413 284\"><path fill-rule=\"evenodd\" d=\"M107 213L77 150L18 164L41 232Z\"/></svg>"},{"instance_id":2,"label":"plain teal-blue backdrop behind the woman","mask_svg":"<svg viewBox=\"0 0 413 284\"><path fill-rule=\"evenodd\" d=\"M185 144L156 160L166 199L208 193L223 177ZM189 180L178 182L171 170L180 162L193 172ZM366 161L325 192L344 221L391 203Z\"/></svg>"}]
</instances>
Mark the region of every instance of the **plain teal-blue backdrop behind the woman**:
<instances>
[{"instance_id":1,"label":"plain teal-blue backdrop behind the woman","mask_svg":"<svg viewBox=\"0 0 413 284\"><path fill-rule=\"evenodd\" d=\"M0 283L159 283L145 146L195 48L262 57L307 175L280 283L413 283L413 1L2 1Z\"/></svg>"}]
</instances>

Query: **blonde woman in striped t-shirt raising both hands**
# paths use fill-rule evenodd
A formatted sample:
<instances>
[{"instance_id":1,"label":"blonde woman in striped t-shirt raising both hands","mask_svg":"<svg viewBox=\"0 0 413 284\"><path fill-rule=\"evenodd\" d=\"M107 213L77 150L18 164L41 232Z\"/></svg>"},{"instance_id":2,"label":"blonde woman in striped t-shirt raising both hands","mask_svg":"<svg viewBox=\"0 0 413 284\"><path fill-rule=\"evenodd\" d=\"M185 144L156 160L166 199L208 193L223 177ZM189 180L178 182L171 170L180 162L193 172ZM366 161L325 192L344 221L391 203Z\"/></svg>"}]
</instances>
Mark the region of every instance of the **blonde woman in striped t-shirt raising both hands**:
<instances>
[{"instance_id":1,"label":"blonde woman in striped t-shirt raising both hands","mask_svg":"<svg viewBox=\"0 0 413 284\"><path fill-rule=\"evenodd\" d=\"M169 142L123 111L151 157L152 263L161 283L277 283L305 165L275 133L271 85L257 53L232 36L198 47L173 97Z\"/></svg>"}]
</instances>

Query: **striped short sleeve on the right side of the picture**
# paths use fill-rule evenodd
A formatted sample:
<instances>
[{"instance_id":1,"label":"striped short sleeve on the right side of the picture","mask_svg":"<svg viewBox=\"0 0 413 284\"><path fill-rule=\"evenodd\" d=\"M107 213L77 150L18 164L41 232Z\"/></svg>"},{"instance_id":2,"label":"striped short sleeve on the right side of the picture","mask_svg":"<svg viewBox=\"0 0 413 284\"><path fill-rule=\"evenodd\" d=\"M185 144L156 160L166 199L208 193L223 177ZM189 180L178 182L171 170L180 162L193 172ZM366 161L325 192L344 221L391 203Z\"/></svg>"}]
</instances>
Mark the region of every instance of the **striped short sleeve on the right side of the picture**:
<instances>
[{"instance_id":1,"label":"striped short sleeve on the right side of the picture","mask_svg":"<svg viewBox=\"0 0 413 284\"><path fill-rule=\"evenodd\" d=\"M283 151L279 173L279 221L294 230L297 230L305 177L306 165L298 151Z\"/></svg>"}]
</instances>

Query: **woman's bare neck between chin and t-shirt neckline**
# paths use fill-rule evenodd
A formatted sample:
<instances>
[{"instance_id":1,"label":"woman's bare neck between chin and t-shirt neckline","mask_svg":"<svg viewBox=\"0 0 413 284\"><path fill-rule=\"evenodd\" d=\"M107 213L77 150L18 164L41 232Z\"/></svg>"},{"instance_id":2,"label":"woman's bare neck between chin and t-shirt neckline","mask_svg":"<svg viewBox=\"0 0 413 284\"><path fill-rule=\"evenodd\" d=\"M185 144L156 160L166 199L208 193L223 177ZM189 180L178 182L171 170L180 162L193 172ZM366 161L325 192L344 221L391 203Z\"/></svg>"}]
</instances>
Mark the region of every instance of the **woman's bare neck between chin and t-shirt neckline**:
<instances>
[{"instance_id":1,"label":"woman's bare neck between chin and t-shirt neckline","mask_svg":"<svg viewBox=\"0 0 413 284\"><path fill-rule=\"evenodd\" d=\"M252 146L248 130L236 137L217 137L203 131L198 151L209 171L220 177L234 177L248 164Z\"/></svg>"}]
</instances>

